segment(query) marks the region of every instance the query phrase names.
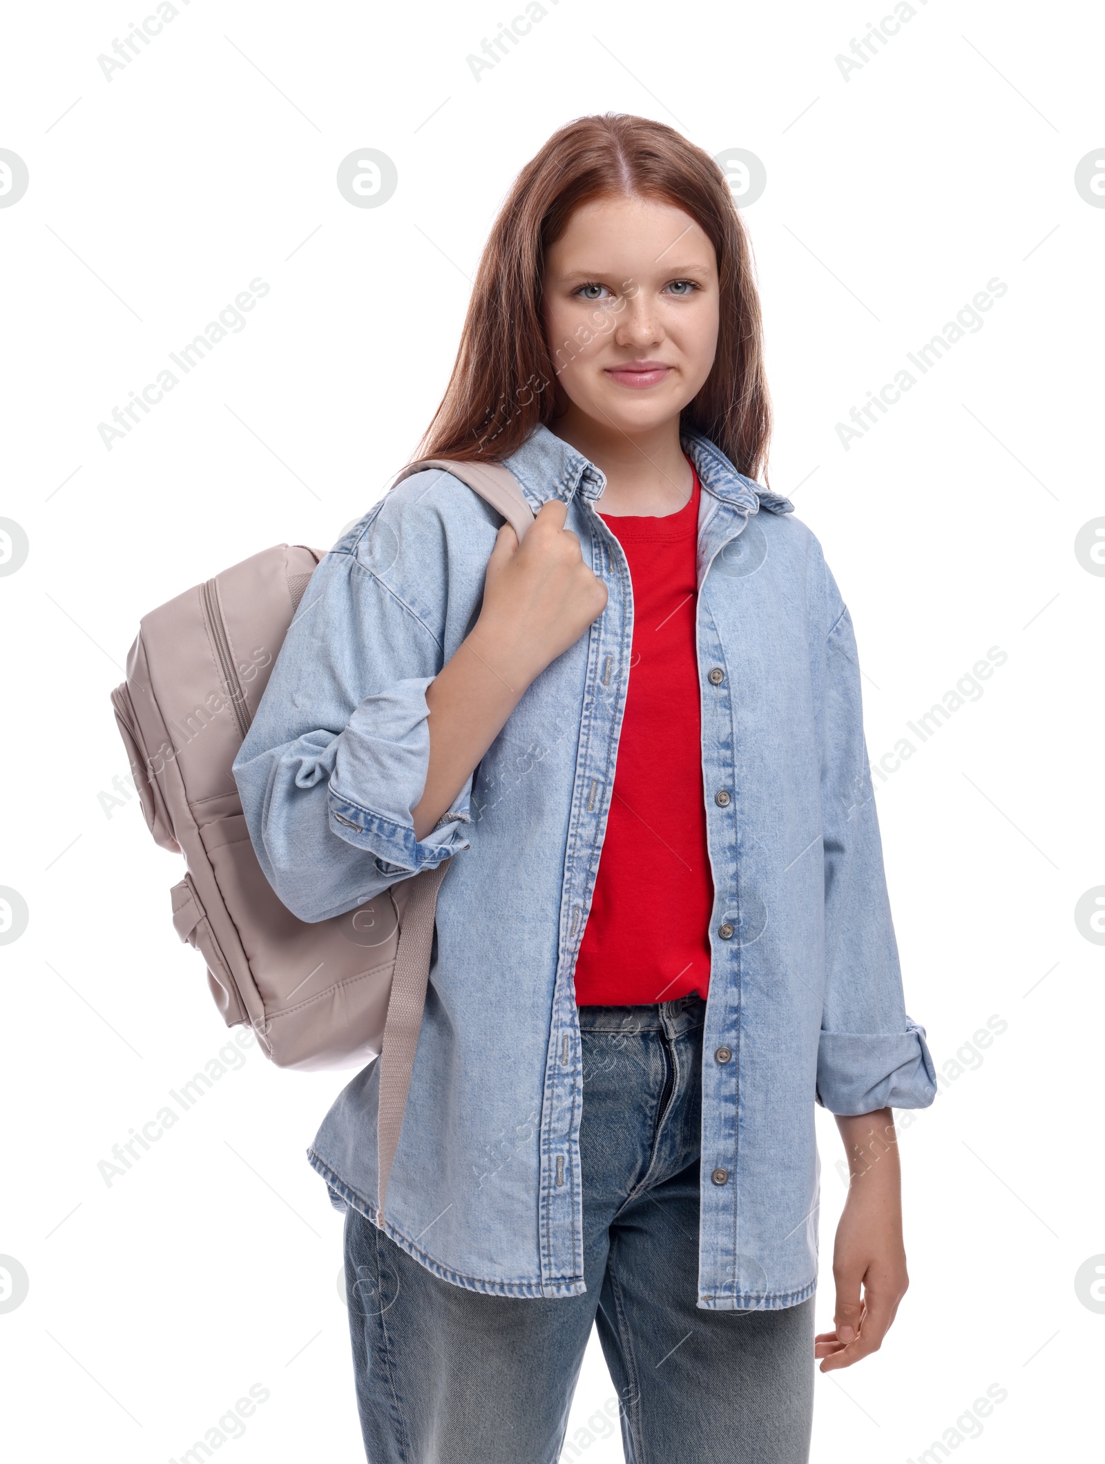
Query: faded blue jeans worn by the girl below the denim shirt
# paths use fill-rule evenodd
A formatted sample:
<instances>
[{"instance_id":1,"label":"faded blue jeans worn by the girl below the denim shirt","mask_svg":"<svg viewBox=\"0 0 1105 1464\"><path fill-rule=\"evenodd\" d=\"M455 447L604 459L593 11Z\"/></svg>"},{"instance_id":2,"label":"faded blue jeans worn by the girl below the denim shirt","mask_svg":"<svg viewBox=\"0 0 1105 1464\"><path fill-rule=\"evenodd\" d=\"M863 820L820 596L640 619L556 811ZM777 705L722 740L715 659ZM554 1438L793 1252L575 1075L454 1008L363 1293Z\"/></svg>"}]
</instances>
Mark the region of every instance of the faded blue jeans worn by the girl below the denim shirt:
<instances>
[{"instance_id":1,"label":"faded blue jeans worn by the girl below the denim shirt","mask_svg":"<svg viewBox=\"0 0 1105 1464\"><path fill-rule=\"evenodd\" d=\"M564 1433L592 1323L629 1464L806 1464L813 1299L758 1312L695 1304L703 1016L698 996L579 1010L583 1296L457 1287L347 1211L369 1464L582 1458Z\"/></svg>"}]
</instances>

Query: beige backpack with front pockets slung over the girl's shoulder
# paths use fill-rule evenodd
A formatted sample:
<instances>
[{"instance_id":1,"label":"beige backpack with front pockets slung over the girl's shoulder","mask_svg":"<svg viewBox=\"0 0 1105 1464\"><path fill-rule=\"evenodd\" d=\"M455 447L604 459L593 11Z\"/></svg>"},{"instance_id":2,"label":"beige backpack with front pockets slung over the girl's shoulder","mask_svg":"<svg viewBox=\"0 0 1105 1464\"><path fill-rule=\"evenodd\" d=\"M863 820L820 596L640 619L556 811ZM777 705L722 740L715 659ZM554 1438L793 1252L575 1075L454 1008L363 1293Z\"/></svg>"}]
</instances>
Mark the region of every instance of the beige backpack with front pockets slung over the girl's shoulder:
<instances>
[{"instance_id":1,"label":"beige backpack with front pockets slung over the girl's shoulder","mask_svg":"<svg viewBox=\"0 0 1105 1464\"><path fill-rule=\"evenodd\" d=\"M444 468L514 527L533 514L498 464ZM425 1006L437 892L448 861L346 915L308 924L276 896L249 842L230 766L324 552L277 545L145 615L111 692L142 813L185 855L173 924L207 962L227 1026L249 1023L280 1067L362 1067L380 1083L380 1203L399 1145Z\"/></svg>"}]
</instances>

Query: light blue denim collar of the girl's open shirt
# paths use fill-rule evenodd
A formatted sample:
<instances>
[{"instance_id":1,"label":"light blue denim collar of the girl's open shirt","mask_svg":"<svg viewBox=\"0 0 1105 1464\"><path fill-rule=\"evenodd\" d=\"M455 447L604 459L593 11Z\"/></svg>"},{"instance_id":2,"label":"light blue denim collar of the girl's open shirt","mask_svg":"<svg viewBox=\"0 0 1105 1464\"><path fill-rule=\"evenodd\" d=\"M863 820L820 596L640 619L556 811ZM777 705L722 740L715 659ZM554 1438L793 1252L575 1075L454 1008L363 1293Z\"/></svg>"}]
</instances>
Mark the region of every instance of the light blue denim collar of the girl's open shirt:
<instances>
[{"instance_id":1,"label":"light blue denim collar of the girl's open shirt","mask_svg":"<svg viewBox=\"0 0 1105 1464\"><path fill-rule=\"evenodd\" d=\"M702 433L684 429L680 433L680 441L683 451L695 464L703 490L722 504L728 504L743 514L755 514L761 508L774 514L794 511L788 498L772 493L753 479L739 473L725 454ZM535 509L548 502L550 498L563 498L564 502L572 502L576 493L594 504L602 496L607 486L601 468L541 423L516 452L504 458L504 466L519 480Z\"/></svg>"}]
</instances>

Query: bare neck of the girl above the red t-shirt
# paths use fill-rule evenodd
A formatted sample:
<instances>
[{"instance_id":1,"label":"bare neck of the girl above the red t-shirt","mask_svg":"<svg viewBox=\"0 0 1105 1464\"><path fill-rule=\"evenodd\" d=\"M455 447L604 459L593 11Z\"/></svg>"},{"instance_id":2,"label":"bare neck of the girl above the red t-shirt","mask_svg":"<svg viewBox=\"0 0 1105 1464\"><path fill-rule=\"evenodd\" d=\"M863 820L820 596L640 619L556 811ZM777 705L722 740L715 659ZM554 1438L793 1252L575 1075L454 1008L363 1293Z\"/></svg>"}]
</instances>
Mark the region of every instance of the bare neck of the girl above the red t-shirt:
<instances>
[{"instance_id":1,"label":"bare neck of the girl above the red t-shirt","mask_svg":"<svg viewBox=\"0 0 1105 1464\"><path fill-rule=\"evenodd\" d=\"M585 417L569 406L550 423L563 442L582 452L607 480L602 514L664 517L677 514L690 498L695 479L679 441L679 417L633 435Z\"/></svg>"}]
</instances>

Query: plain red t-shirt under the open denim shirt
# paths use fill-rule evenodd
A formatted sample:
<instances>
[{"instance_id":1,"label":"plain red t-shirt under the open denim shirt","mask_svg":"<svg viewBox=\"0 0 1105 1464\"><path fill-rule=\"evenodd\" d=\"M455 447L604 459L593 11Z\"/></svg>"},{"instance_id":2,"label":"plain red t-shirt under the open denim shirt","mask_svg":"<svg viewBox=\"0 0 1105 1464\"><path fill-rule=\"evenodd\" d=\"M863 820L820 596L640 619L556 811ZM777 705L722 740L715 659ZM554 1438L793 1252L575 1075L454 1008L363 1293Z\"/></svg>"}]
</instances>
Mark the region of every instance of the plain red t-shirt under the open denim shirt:
<instances>
[{"instance_id":1,"label":"plain red t-shirt under the open denim shirt","mask_svg":"<svg viewBox=\"0 0 1105 1464\"><path fill-rule=\"evenodd\" d=\"M629 561L633 650L614 796L576 962L579 1006L645 1006L690 991L705 997L709 987L698 512L695 473L679 512L605 520Z\"/></svg>"}]
</instances>

